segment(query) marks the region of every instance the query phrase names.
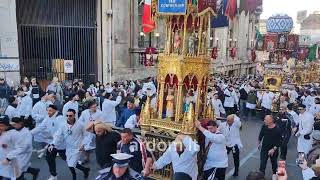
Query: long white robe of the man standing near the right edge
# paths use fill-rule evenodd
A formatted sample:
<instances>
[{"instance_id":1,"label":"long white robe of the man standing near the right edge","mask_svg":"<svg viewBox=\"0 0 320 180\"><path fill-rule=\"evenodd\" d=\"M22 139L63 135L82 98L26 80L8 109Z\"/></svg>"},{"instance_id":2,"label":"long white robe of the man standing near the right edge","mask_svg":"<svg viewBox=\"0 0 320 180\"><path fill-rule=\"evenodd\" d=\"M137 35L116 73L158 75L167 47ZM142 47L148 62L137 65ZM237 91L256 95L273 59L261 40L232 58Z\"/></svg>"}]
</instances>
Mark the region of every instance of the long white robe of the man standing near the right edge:
<instances>
[{"instance_id":1,"label":"long white robe of the man standing near the right edge","mask_svg":"<svg viewBox=\"0 0 320 180\"><path fill-rule=\"evenodd\" d=\"M299 114L299 130L297 133L300 134L298 137L297 150L298 152L304 152L308 154L312 147L312 131L313 131L314 118L312 114L304 112ZM309 135L310 139L305 139L304 136Z\"/></svg>"}]
</instances>

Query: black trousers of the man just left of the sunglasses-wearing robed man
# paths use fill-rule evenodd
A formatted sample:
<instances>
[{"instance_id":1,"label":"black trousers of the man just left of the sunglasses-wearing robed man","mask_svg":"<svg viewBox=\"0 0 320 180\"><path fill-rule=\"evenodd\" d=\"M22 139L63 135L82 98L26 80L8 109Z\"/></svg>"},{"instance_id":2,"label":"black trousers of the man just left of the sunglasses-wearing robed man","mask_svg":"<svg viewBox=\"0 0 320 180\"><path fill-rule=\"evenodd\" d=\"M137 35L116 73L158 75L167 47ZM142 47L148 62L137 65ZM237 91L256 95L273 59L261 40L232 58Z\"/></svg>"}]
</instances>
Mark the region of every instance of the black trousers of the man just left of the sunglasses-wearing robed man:
<instances>
[{"instance_id":1,"label":"black trousers of the man just left of the sunglasses-wearing robed man","mask_svg":"<svg viewBox=\"0 0 320 180\"><path fill-rule=\"evenodd\" d=\"M66 150L57 150L53 149L51 152L47 150L46 152L46 160L49 166L49 171L52 176L57 176L57 165L56 165L56 157L57 153L59 153L59 156L62 160L66 161Z\"/></svg>"}]
</instances>

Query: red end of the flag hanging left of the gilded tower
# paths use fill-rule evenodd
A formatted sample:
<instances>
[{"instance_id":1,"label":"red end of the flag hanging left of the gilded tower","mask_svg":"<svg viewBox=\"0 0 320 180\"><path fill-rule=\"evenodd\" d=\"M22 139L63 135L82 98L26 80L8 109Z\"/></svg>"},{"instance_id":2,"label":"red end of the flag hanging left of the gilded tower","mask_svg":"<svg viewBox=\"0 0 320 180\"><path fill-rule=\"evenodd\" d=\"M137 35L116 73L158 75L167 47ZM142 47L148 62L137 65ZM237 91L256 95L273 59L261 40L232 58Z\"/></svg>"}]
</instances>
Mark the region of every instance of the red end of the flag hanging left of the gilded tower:
<instances>
[{"instance_id":1,"label":"red end of the flag hanging left of the gilded tower","mask_svg":"<svg viewBox=\"0 0 320 180\"><path fill-rule=\"evenodd\" d=\"M155 23L151 16L151 1L145 0L142 15L142 30L144 33L152 32L155 29Z\"/></svg>"}]
</instances>

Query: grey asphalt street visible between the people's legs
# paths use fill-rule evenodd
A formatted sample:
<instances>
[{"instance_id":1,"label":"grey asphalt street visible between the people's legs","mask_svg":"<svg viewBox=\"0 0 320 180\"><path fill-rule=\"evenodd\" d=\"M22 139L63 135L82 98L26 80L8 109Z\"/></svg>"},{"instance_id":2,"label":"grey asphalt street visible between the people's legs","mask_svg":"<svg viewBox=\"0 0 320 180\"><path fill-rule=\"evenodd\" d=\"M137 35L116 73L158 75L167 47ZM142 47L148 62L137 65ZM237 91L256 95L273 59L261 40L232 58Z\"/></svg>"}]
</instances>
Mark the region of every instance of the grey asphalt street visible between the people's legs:
<instances>
[{"instance_id":1,"label":"grey asphalt street visible between the people's legs","mask_svg":"<svg viewBox=\"0 0 320 180\"><path fill-rule=\"evenodd\" d=\"M240 174L239 177L233 178L233 159L232 155L229 155L229 168L227 170L227 179L230 180L244 180L246 175L250 171L258 171L259 169L259 152L256 148L257 146L257 139L258 134L260 131L260 127L262 125L262 121L260 120L253 120L253 118L248 120L243 120L243 128L241 131L242 142L244 148L241 150L241 157L240 157ZM295 164L296 158L296 139L291 138L289 148L288 148L288 160L287 160L287 170L288 170L288 179L289 180L301 180L301 170ZM58 169L58 179L60 180L69 180L71 179L71 173L69 172L66 163L61 161L59 157L57 158L57 169ZM49 177L48 173L48 166L45 162L45 159L38 159L36 156L32 159L32 166L40 168L41 173L39 176L39 180L45 180ZM90 180L94 179L97 175L98 167L94 160L90 163L90 167L92 169ZM82 180L83 175L80 171L78 173L78 179ZM271 172L271 165L268 162L267 170L266 170L267 178L271 179L272 172ZM31 179L30 176L27 176L27 179Z\"/></svg>"}]
</instances>

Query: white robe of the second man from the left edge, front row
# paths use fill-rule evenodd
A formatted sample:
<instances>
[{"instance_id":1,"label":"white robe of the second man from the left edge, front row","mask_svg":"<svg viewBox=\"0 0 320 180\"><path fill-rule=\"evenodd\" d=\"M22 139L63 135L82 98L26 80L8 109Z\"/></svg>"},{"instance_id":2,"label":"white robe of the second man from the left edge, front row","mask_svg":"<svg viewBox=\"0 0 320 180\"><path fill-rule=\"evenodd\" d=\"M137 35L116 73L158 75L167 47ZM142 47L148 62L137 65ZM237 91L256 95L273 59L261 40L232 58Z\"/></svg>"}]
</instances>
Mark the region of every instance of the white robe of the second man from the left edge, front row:
<instances>
[{"instance_id":1,"label":"white robe of the second man from the left edge, front row","mask_svg":"<svg viewBox=\"0 0 320 180\"><path fill-rule=\"evenodd\" d=\"M15 136L14 150L7 154L10 160L16 160L19 170L26 172L32 156L32 135L28 128L17 131Z\"/></svg>"}]
</instances>

